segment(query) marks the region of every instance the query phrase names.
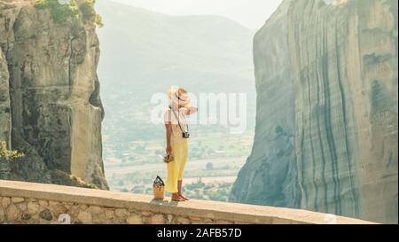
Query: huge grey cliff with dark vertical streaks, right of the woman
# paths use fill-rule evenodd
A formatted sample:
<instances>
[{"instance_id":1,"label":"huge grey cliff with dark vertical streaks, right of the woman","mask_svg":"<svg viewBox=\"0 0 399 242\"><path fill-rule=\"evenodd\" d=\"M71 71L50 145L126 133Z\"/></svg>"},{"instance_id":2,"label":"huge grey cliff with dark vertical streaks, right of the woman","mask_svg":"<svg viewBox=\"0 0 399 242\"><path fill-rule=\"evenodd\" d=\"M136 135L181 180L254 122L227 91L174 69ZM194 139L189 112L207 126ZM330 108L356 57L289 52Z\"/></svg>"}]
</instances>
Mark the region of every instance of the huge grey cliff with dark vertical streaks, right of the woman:
<instances>
[{"instance_id":1,"label":"huge grey cliff with dark vertical streaks, right of the woman","mask_svg":"<svg viewBox=\"0 0 399 242\"><path fill-rule=\"evenodd\" d=\"M256 192L270 194L276 189L273 181L280 181L278 191L270 194L274 199L256 203L397 222L397 1L284 4L288 5L286 15L275 14L255 37L261 113L254 152L231 199L248 201L247 194L254 192L257 183L262 187L255 188L262 191ZM286 24L286 37L265 47L277 35L284 35L273 24L281 21ZM288 53L288 61L281 55L284 51L276 51L281 49ZM267 63L273 59L285 65L271 68ZM282 69L291 74L291 80L289 74L278 75ZM262 89L267 82L266 90ZM279 95L268 91L288 82L293 90L291 105L279 101L286 90ZM287 108L293 113L286 113ZM276 121L276 115L286 119ZM289 119L290 115L294 118ZM293 140L270 144L273 136L267 134L275 129L273 123L282 123L278 130L284 134L293 128ZM284 149L289 144L293 151ZM278 150L275 147L283 147L280 159L268 152ZM281 159L284 156L291 158ZM286 173L270 172L278 167Z\"/></svg>"}]
</instances>

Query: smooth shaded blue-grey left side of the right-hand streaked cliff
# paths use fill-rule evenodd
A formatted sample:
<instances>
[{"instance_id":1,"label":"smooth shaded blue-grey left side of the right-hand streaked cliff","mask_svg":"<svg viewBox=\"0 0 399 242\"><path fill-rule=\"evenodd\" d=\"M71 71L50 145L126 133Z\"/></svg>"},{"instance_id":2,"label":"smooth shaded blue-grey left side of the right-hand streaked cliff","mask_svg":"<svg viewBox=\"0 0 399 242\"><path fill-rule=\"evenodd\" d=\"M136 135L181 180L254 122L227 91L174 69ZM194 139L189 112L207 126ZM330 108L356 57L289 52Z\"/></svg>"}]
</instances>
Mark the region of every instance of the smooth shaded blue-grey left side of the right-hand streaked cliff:
<instances>
[{"instance_id":1,"label":"smooth shaded blue-grey left side of the right-hand streaked cliff","mask_svg":"<svg viewBox=\"0 0 399 242\"><path fill-rule=\"evenodd\" d=\"M299 187L294 182L295 112L293 75L286 48L284 2L254 37L257 115L254 147L231 191L231 200L299 207Z\"/></svg>"}]
</instances>

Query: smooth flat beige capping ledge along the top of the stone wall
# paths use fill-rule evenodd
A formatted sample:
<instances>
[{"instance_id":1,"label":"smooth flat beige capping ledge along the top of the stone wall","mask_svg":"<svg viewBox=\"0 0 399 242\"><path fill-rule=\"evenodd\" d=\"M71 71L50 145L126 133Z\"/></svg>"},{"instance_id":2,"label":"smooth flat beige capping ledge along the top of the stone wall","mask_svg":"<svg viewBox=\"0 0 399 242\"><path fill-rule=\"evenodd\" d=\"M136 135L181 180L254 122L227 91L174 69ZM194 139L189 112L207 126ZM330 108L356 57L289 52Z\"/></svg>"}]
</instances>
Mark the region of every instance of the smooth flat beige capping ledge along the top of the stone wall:
<instances>
[{"instance_id":1,"label":"smooth flat beige capping ledge along the top of the stone wall","mask_svg":"<svg viewBox=\"0 0 399 242\"><path fill-rule=\"evenodd\" d=\"M325 215L299 209L262 207L215 201L190 200L170 202L153 200L152 196L116 191L91 190L43 183L0 180L0 197L50 200L98 207L149 211L154 214L177 215L237 223L324 224L333 218L339 224L372 224L341 216Z\"/></svg>"}]
</instances>

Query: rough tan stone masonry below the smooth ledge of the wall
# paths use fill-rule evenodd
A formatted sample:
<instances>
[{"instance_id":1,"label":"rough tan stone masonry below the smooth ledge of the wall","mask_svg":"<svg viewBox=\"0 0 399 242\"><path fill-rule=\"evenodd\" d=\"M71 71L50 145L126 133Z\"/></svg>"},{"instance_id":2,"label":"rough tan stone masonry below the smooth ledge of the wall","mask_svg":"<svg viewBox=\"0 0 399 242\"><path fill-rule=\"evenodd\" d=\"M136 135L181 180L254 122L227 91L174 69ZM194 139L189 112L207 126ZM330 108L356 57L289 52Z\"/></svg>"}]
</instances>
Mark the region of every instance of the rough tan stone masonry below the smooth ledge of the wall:
<instances>
[{"instance_id":1,"label":"rough tan stone masonry below the smooth ledge of the wall","mask_svg":"<svg viewBox=\"0 0 399 242\"><path fill-rule=\"evenodd\" d=\"M234 222L197 216L167 215L133 208L99 207L74 202L1 197L0 223L231 224Z\"/></svg>"}]
</instances>

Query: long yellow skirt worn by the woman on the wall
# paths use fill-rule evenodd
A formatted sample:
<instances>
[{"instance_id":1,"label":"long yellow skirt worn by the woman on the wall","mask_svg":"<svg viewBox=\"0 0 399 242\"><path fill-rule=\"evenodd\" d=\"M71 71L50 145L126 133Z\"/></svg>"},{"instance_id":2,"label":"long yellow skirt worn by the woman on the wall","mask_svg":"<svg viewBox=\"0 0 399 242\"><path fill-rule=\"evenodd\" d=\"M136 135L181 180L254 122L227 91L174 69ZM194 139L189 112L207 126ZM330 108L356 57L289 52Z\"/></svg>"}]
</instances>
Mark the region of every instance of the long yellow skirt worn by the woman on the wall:
<instances>
[{"instance_id":1,"label":"long yellow skirt worn by the woman on the wall","mask_svg":"<svg viewBox=\"0 0 399 242\"><path fill-rule=\"evenodd\" d=\"M165 184L165 191L176 193L177 181L183 180L185 162L188 158L188 141L179 144L171 144L174 161L168 163L168 177Z\"/></svg>"}]
</instances>

